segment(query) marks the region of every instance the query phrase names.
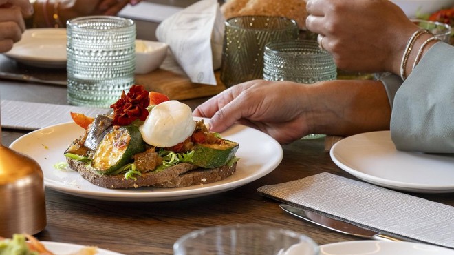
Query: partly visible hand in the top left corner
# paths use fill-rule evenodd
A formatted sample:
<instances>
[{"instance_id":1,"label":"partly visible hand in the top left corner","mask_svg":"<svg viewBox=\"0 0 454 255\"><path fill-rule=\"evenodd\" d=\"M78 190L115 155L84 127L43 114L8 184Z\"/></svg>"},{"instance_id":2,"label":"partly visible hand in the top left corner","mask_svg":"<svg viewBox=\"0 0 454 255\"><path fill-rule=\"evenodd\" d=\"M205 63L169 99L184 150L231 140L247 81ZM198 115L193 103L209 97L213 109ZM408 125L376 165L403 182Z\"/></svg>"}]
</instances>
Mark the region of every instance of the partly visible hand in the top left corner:
<instances>
[{"instance_id":1,"label":"partly visible hand in the top left corner","mask_svg":"<svg viewBox=\"0 0 454 255\"><path fill-rule=\"evenodd\" d=\"M33 14L28 0L0 0L0 52L11 50L25 30L23 18Z\"/></svg>"}]
</instances>

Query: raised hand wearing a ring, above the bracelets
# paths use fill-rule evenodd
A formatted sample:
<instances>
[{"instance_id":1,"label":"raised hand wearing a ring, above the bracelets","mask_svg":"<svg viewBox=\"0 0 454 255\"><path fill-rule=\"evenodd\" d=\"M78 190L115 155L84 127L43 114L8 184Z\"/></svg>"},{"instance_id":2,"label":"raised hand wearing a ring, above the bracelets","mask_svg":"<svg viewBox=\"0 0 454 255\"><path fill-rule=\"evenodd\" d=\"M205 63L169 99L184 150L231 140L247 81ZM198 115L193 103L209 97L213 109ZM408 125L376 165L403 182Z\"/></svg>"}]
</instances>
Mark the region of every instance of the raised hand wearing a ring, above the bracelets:
<instances>
[{"instance_id":1,"label":"raised hand wearing a ring, above the bracelets","mask_svg":"<svg viewBox=\"0 0 454 255\"><path fill-rule=\"evenodd\" d=\"M418 30L388 0L307 0L306 26L323 36L341 70L400 73L407 40Z\"/></svg>"}]
</instances>

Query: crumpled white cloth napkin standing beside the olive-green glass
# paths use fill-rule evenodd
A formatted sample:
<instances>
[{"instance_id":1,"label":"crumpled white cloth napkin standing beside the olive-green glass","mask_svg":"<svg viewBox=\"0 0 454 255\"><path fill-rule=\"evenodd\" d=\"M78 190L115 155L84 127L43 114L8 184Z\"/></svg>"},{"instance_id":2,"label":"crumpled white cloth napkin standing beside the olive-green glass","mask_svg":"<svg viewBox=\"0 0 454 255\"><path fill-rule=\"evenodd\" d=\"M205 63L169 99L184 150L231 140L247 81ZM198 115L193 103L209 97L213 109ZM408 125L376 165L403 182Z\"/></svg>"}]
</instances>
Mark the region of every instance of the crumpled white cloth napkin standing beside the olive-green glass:
<instances>
[{"instance_id":1,"label":"crumpled white cloth napkin standing beside the olive-green glass","mask_svg":"<svg viewBox=\"0 0 454 255\"><path fill-rule=\"evenodd\" d=\"M160 23L156 38L169 48L193 83L217 85L221 66L224 16L217 0L197 1Z\"/></svg>"}]
</instances>

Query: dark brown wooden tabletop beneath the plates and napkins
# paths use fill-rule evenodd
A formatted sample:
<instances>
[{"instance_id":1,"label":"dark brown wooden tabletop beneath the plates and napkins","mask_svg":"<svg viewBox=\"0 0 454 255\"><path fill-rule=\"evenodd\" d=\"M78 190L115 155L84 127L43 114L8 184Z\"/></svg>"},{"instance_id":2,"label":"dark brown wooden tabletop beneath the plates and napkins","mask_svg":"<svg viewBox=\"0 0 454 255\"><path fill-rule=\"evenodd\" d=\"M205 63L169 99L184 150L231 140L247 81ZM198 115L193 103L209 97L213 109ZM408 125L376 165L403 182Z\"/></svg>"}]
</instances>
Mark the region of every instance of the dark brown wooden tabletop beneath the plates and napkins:
<instances>
[{"instance_id":1,"label":"dark brown wooden tabletop beneath the plates and napkins","mask_svg":"<svg viewBox=\"0 0 454 255\"><path fill-rule=\"evenodd\" d=\"M0 56L0 66L15 72L27 67ZM65 70L45 70L50 76ZM66 88L56 85L0 81L1 99L67 104ZM195 108L207 98L183 101ZM18 113L19 114L19 113ZM3 129L3 145L28 133ZM324 150L323 139L300 140L283 146L283 161L270 174L234 190L183 201L132 203L80 198L46 188L47 227L36 234L41 241L96 245L122 254L173 254L180 236L202 227L259 223L300 232L319 245L360 240L300 221L279 208L279 202L261 196L262 185L283 183L330 172L355 179L340 170ZM413 194L454 205L454 194Z\"/></svg>"}]
</instances>

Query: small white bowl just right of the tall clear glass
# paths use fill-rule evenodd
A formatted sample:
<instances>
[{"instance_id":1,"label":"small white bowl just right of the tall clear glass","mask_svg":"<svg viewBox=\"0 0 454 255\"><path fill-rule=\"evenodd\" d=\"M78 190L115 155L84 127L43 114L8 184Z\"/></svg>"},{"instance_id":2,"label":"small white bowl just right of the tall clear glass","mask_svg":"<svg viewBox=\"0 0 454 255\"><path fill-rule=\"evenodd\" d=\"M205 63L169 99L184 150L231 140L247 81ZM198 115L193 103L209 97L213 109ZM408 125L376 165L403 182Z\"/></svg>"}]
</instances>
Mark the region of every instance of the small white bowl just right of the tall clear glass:
<instances>
[{"instance_id":1,"label":"small white bowl just right of the tall clear glass","mask_svg":"<svg viewBox=\"0 0 454 255\"><path fill-rule=\"evenodd\" d=\"M156 70L166 58L169 45L159 41L136 40L136 74Z\"/></svg>"}]
</instances>

